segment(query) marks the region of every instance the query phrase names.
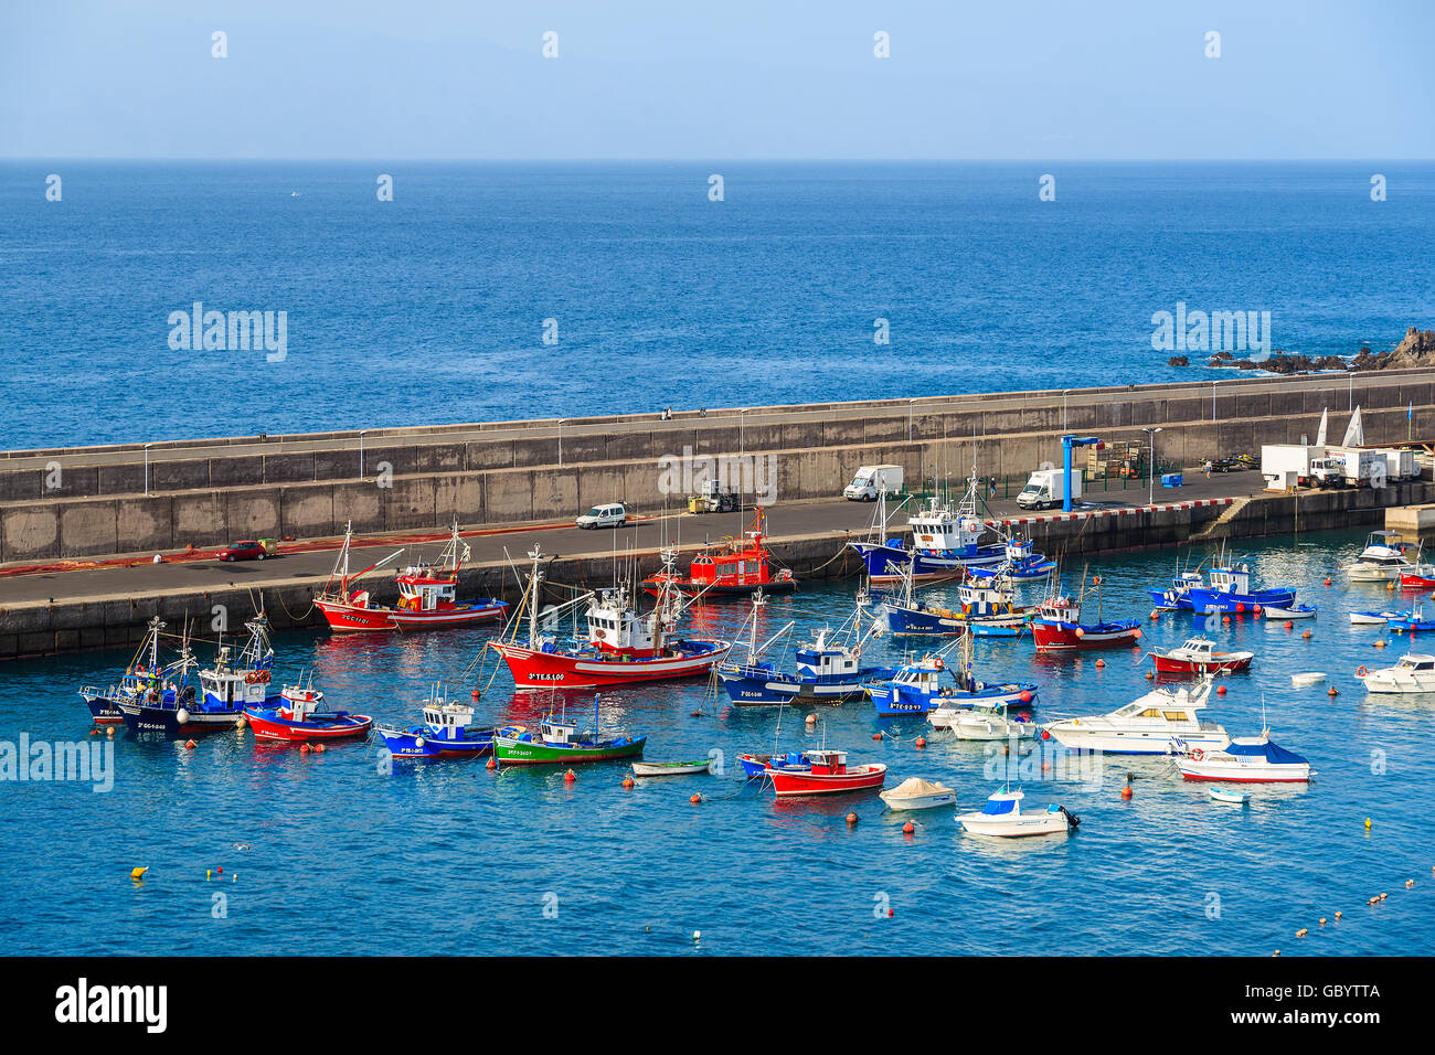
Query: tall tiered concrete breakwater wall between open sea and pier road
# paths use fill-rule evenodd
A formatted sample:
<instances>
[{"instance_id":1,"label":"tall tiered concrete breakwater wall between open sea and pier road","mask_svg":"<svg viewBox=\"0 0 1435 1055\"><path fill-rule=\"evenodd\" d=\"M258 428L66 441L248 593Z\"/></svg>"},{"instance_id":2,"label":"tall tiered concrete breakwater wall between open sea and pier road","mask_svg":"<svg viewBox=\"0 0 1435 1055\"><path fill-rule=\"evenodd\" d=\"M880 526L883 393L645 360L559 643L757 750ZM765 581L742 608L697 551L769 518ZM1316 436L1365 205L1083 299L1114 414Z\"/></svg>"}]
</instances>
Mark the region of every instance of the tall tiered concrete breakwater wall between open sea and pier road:
<instances>
[{"instance_id":1,"label":"tall tiered concrete breakwater wall between open sea and pier road","mask_svg":"<svg viewBox=\"0 0 1435 1055\"><path fill-rule=\"evenodd\" d=\"M960 478L973 459L983 475L1020 478L1059 464L1068 431L1147 442L1141 429L1159 426L1157 456L1191 465L1313 436L1325 408L1339 433L1355 403L1369 442L1435 432L1429 373L1392 372L10 452L0 563L321 538L350 521L357 531L560 521L607 501L660 512L683 501L662 459L684 456L762 459L745 477L735 466L736 482L753 492L768 481L778 501L832 497L872 462L903 465L910 484Z\"/></svg>"}]
</instances>

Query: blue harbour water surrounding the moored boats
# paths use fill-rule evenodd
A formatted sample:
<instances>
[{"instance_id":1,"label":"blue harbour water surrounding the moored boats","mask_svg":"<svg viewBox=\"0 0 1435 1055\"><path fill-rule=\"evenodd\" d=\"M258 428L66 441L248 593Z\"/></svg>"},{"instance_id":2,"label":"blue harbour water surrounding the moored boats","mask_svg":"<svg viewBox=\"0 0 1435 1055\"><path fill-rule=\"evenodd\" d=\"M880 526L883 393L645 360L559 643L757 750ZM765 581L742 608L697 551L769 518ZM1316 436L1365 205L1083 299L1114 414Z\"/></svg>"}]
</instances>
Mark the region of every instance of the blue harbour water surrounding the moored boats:
<instances>
[{"instance_id":1,"label":"blue harbour water surrounding the moored boats","mask_svg":"<svg viewBox=\"0 0 1435 1055\"><path fill-rule=\"evenodd\" d=\"M1316 769L1309 787L1251 785L1246 808L1211 802L1165 759L1112 756L1082 774L1049 746L1050 771L1019 759L1017 775L1029 804L1065 804L1081 815L1079 831L989 841L963 834L950 811L884 815L872 795L776 802L732 775L624 791L620 764L580 766L565 785L558 771L494 774L464 761L383 772L366 744L300 755L230 732L194 749L121 735L109 792L0 784L6 952L1431 955L1435 853L1424 804L1435 792L1426 759L1435 702L1366 698L1352 676L1406 647L1346 620L1352 607L1391 600L1339 576L1360 543L1325 534L1251 545L1258 578L1297 586L1320 616L1294 630L1248 617L1213 629L1257 660L1251 673L1223 679L1228 693L1213 696L1208 716L1251 735L1264 700L1277 742ZM1167 550L1092 566L1104 577L1104 614L1145 616L1144 587L1170 578L1175 561ZM791 619L805 634L839 623L852 586L772 599L763 627ZM692 630L730 634L743 613L709 606ZM1191 622L1145 623L1142 643L1178 643ZM276 646L283 676L311 670L333 703L408 722L428 686L456 679L488 633L293 633ZM898 659L900 647L883 642L878 653ZM1138 653L1102 657L1096 669L1096 655L1046 660L1029 642L983 640L977 670L1038 682L1043 719L1112 711L1149 688ZM108 683L126 659L7 665L0 741L85 739L75 689ZM1326 685L1292 690L1300 670L1327 672L1340 695L1329 698ZM852 761L887 762L888 785L914 775L949 784L963 811L980 808L1012 764L1000 748L947 741L920 719L878 719L868 703L824 709L822 726L808 732L792 711L723 703L690 716L702 698L702 682L611 690L601 719L649 733L647 756L659 761L718 748L730 765L739 751L825 738ZM542 703L514 693L501 673L481 711L534 723ZM914 745L921 731L924 749ZM1135 794L1122 801L1126 772ZM707 801L692 805L695 791ZM848 810L861 817L855 828L844 822ZM138 884L136 866L151 868ZM222 877L207 878L215 868ZM1388 901L1366 907L1379 893ZM878 917L883 907L891 916ZM1336 911L1339 924L1317 926ZM1307 939L1294 937L1300 927Z\"/></svg>"}]
</instances>

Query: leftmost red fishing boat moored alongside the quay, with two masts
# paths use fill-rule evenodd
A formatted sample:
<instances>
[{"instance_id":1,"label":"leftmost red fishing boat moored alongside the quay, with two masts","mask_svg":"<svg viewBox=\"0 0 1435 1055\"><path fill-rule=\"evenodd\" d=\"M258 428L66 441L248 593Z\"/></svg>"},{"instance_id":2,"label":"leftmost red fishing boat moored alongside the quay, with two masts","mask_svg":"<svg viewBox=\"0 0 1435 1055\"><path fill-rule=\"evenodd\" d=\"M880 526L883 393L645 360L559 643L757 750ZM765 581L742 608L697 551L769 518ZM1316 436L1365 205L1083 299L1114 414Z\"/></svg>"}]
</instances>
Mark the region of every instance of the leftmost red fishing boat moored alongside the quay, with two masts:
<instances>
[{"instance_id":1,"label":"leftmost red fishing boat moored alongside the quay, with two masts","mask_svg":"<svg viewBox=\"0 0 1435 1055\"><path fill-rule=\"evenodd\" d=\"M357 574L349 573L349 548L353 541L353 524L344 528L344 544L334 560L324 591L314 599L314 606L324 613L331 630L354 633L364 630L433 630L441 627L472 626L488 619L502 619L508 601L497 597L478 597L474 601L458 601L458 573L469 557L468 543L458 535L458 521L448 545L432 563L410 564L395 578L399 600L393 606L376 604L367 590L354 589L364 576L403 554L397 550L380 561L370 564ZM337 587L334 584L337 580Z\"/></svg>"}]
</instances>

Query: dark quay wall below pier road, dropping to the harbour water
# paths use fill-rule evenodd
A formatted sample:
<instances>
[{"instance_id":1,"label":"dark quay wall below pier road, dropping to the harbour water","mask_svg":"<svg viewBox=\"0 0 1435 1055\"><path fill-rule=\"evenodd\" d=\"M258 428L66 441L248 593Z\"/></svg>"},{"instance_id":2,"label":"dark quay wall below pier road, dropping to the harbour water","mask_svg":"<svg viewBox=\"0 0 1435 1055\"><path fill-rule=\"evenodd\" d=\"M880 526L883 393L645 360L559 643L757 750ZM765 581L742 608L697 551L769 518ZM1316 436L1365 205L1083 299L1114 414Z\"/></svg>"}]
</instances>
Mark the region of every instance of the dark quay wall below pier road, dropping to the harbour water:
<instances>
[{"instance_id":1,"label":"dark quay wall below pier road, dropping to the harbour water","mask_svg":"<svg viewBox=\"0 0 1435 1055\"><path fill-rule=\"evenodd\" d=\"M1118 508L1081 514L1050 514L1022 518L1019 527L1048 554L1096 555L1147 547L1215 545L1221 538L1294 535L1359 525L1379 525L1385 510L1435 501L1435 484L1403 484L1385 491L1327 491L1299 495L1260 495L1251 500L1208 500ZM1016 521L1009 521L1016 522ZM893 534L901 534L893 531ZM848 535L838 531L769 540L775 560L799 578L855 576L861 561L844 548ZM684 547L687 555L697 547ZM634 554L643 574L656 571L656 551ZM83 573L69 573L82 576ZM611 554L575 554L548 564L550 581L585 589L613 580ZM464 594L489 594L517 603L521 587L504 563L492 561L465 568ZM263 604L277 629L319 627L323 619L313 607L323 576L286 577L273 568L271 577L253 587L195 589L189 591L139 591L125 597L96 597L59 603L0 604L0 659L46 656L136 644L154 616L178 629L192 620L199 636L211 636L214 619L222 613L231 632ZM369 584L380 603L397 596L392 577ZM564 594L567 596L567 594ZM551 600L561 600L554 596Z\"/></svg>"}]
</instances>

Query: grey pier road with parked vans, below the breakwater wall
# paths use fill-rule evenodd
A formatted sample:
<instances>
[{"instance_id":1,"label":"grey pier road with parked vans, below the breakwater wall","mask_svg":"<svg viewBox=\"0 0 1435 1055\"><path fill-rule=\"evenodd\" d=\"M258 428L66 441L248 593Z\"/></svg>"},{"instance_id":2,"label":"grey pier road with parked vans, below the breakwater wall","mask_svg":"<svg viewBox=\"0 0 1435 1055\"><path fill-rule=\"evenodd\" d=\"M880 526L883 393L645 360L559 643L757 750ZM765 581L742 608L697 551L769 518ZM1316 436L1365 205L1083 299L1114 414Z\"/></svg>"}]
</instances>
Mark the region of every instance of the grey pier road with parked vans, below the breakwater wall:
<instances>
[{"instance_id":1,"label":"grey pier road with parked vans, below the breakwater wall","mask_svg":"<svg viewBox=\"0 0 1435 1055\"><path fill-rule=\"evenodd\" d=\"M1204 498L1233 498L1258 494L1264 485L1261 475L1254 471L1217 474L1207 479L1200 469L1185 472L1187 485L1181 488L1155 488L1155 504L1168 505ZM1147 505L1148 489L1145 482L1131 481L1122 489L1119 481L1111 481L1111 489L1099 485L1086 492L1086 502L1078 508L1128 508ZM845 500L818 500L782 504L778 502L768 510L769 540L773 543L784 538L822 535L831 533L834 538L834 554L838 550L844 531L854 538L864 537L874 518L874 505L865 502L848 502ZM984 512L987 520L1007 520L1016 517L1050 515L1055 511L1027 512L1016 507L1015 498L987 500ZM910 505L890 521L890 528L905 527L910 515ZM751 512L725 514L683 514L664 518L643 518L630 522L626 528L583 531L577 527L544 527L530 530L502 530L497 533L481 533L465 535L471 554L468 567L494 566L502 568L502 576L508 577L507 561L524 573L528 564L528 551L538 545L544 555L567 557L575 554L603 555L614 548L621 555L627 551L653 551L664 544L680 544L684 548L700 545L705 541L718 543L726 537L740 535L751 522ZM412 534L412 533L410 533ZM392 548L385 547L383 535L367 535L356 540L349 567L360 571L369 564L386 557L393 548L403 543L395 543ZM428 555L436 555L442 547L442 540L423 543L422 548ZM228 563L220 560L184 560L175 563L152 564L144 563L132 567L108 566L98 568L80 568L75 571L43 571L29 574L11 574L0 577L0 607L7 604L46 604L73 601L106 601L136 596L155 594L189 594L227 587L253 587L255 590L300 580L317 580L316 586L323 586L330 571L333 571L337 557L339 540L331 548L307 550L271 557L264 561ZM507 550L507 557L505 557ZM146 561L154 554L132 554L133 560ZM390 570L392 564L386 570ZM502 578L486 580L485 586L497 589ZM509 581L509 584L512 584Z\"/></svg>"}]
</instances>

